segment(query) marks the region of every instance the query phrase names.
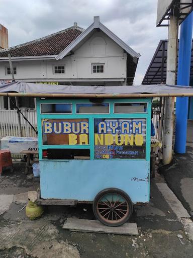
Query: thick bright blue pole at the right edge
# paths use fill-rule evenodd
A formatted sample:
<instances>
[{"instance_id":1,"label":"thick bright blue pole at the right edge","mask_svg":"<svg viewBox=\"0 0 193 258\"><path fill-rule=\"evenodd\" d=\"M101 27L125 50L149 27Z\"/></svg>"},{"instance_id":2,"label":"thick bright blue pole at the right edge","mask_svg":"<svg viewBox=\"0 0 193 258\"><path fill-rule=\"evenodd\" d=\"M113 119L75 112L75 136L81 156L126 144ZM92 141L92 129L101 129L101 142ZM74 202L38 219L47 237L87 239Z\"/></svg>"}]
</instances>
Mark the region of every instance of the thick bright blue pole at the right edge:
<instances>
[{"instance_id":1,"label":"thick bright blue pole at the right edge","mask_svg":"<svg viewBox=\"0 0 193 258\"><path fill-rule=\"evenodd\" d=\"M189 86L193 13L180 26L177 85ZM185 153L188 97L176 99L175 152Z\"/></svg>"}]
</instances>

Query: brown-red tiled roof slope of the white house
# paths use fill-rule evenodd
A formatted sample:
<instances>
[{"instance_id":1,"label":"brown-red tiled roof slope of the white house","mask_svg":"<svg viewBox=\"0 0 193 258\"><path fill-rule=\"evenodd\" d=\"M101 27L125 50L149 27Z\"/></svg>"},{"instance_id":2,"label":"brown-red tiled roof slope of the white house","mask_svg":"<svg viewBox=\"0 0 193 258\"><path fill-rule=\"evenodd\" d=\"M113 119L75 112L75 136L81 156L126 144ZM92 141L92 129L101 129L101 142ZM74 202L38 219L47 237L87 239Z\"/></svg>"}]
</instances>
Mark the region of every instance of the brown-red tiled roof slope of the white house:
<instances>
[{"instance_id":1,"label":"brown-red tiled roof slope of the white house","mask_svg":"<svg viewBox=\"0 0 193 258\"><path fill-rule=\"evenodd\" d=\"M0 57L8 57L8 54L12 57L58 55L83 31L84 29L77 26L70 27L37 40L3 49L0 51Z\"/></svg>"}]
</instances>

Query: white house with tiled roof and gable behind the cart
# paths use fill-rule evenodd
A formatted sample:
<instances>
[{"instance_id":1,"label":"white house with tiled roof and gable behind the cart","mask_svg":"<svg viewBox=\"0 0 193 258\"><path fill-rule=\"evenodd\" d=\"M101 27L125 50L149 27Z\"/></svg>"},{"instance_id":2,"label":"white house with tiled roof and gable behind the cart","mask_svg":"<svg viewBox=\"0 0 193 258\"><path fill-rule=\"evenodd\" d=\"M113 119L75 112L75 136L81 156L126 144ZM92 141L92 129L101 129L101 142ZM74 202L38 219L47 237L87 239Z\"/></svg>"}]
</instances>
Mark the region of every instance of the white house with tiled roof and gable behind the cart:
<instances>
[{"instance_id":1,"label":"white house with tiled roof and gable behind the cart","mask_svg":"<svg viewBox=\"0 0 193 258\"><path fill-rule=\"evenodd\" d=\"M63 85L132 85L140 57L105 27L98 16L86 29L70 28L0 51L0 81L16 80ZM1 99L2 108L12 105ZM33 100L20 100L34 107Z\"/></svg>"}]
</instances>

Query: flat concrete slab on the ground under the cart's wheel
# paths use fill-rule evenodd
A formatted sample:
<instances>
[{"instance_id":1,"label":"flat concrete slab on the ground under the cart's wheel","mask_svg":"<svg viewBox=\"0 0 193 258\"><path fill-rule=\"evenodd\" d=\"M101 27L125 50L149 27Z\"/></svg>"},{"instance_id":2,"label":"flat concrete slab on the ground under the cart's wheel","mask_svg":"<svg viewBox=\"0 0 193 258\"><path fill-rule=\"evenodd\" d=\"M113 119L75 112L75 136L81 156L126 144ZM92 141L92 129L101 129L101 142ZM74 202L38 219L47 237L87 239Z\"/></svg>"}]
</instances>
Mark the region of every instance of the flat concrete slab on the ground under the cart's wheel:
<instances>
[{"instance_id":1,"label":"flat concrete slab on the ground under the cart's wheel","mask_svg":"<svg viewBox=\"0 0 193 258\"><path fill-rule=\"evenodd\" d=\"M68 218L63 225L63 229L78 232L107 233L120 235L138 235L136 223L125 223L119 227L109 227L103 225L98 220Z\"/></svg>"}]
</instances>

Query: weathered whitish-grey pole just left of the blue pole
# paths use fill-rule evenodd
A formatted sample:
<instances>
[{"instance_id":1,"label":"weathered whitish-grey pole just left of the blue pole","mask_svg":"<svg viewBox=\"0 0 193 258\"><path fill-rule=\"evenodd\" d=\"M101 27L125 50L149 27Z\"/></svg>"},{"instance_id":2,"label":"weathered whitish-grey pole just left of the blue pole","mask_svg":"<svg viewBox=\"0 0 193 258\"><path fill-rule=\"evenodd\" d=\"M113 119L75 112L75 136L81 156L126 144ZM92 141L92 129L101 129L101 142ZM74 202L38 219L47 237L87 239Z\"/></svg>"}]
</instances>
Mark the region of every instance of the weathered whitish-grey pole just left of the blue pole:
<instances>
[{"instance_id":1,"label":"weathered whitish-grey pole just left of the blue pole","mask_svg":"<svg viewBox=\"0 0 193 258\"><path fill-rule=\"evenodd\" d=\"M177 37L178 37L178 17L172 11L170 17L169 33L167 43L167 78L166 83L175 85L176 61L177 61ZM173 141L173 112L174 98L166 98L164 111L164 131L163 131L163 164L169 164L172 160Z\"/></svg>"}]
</instances>

